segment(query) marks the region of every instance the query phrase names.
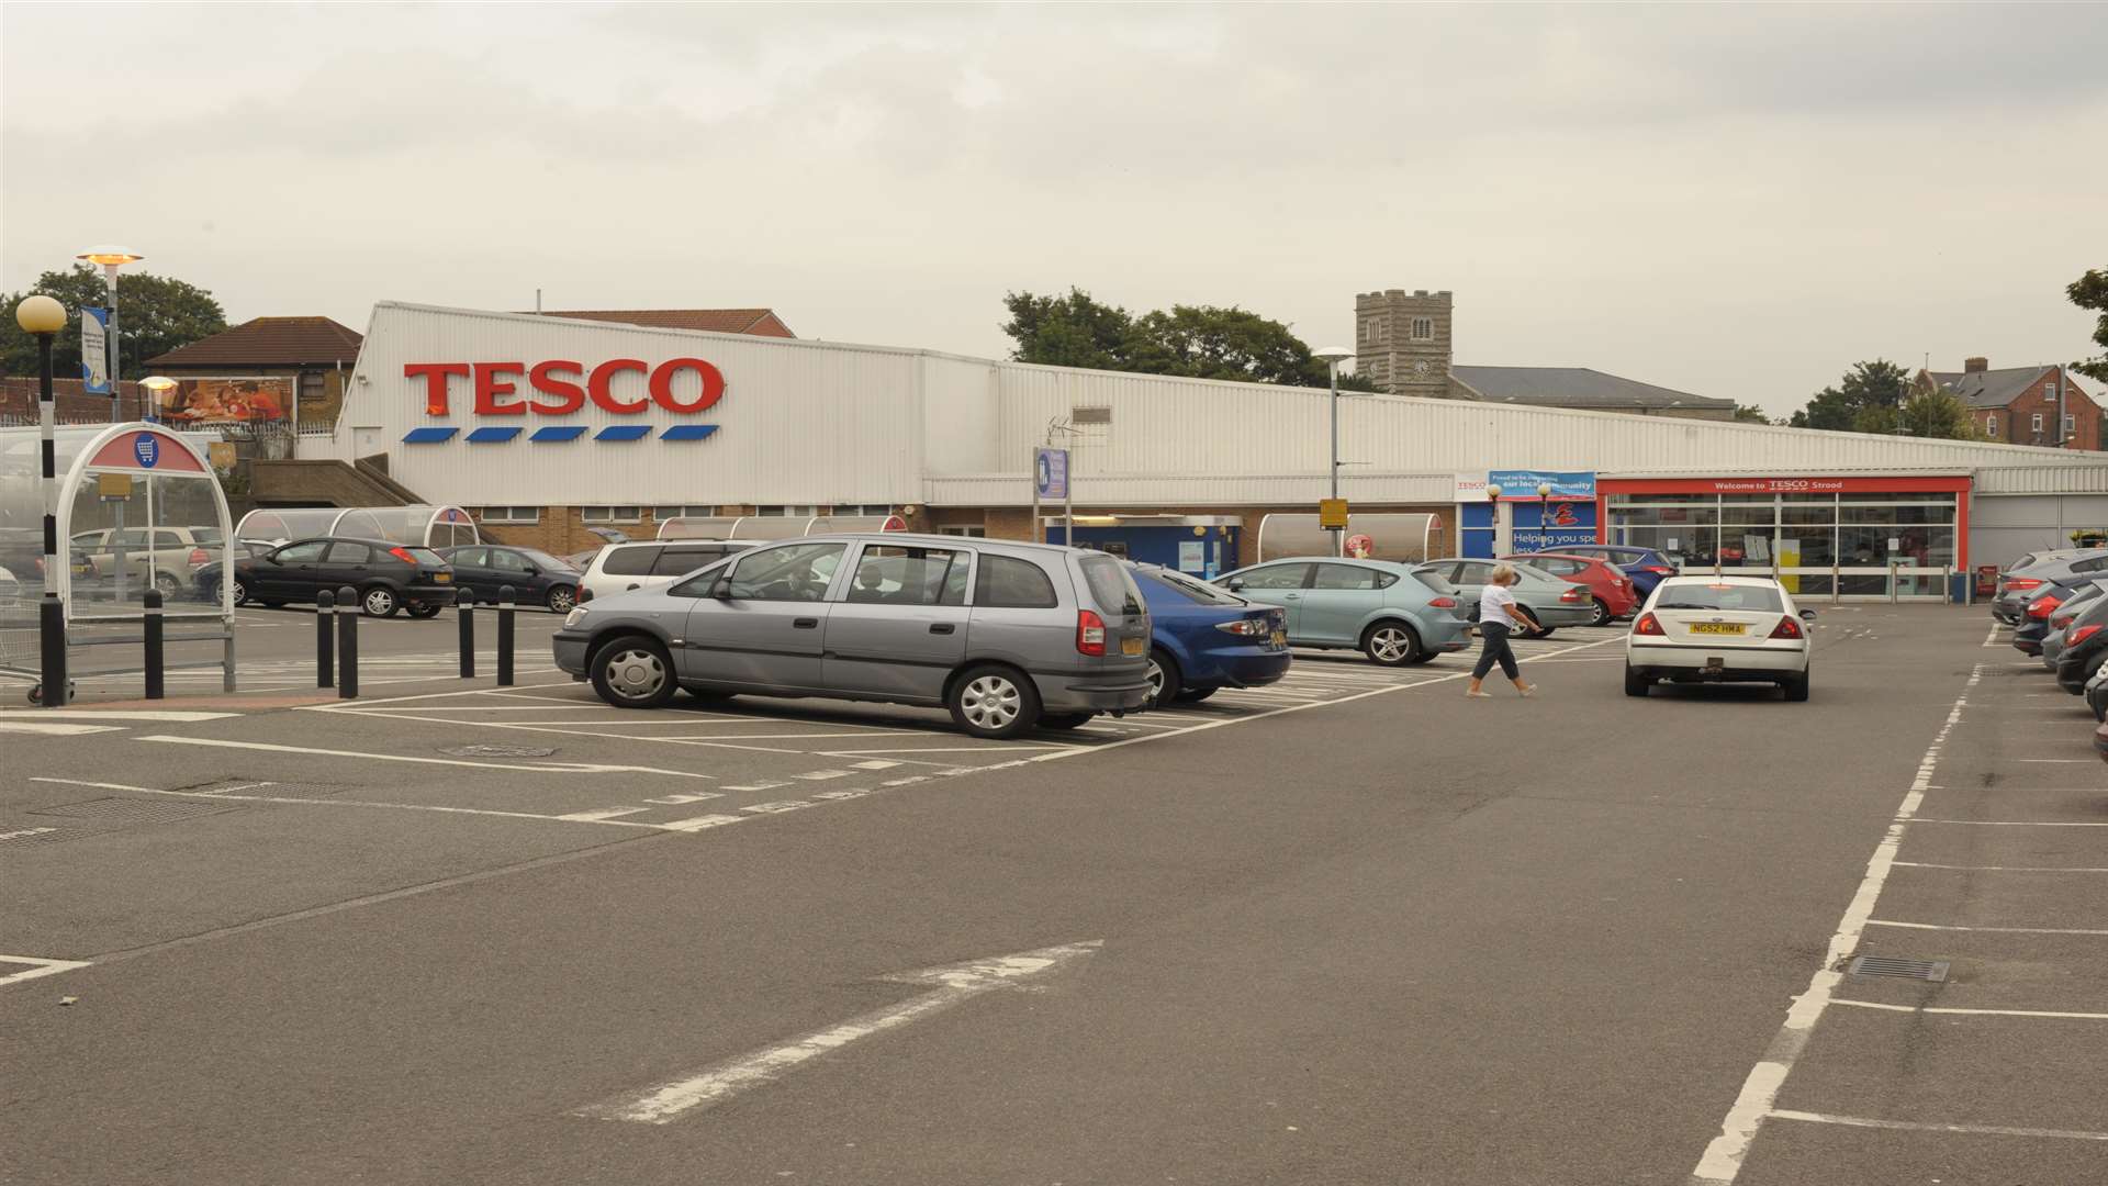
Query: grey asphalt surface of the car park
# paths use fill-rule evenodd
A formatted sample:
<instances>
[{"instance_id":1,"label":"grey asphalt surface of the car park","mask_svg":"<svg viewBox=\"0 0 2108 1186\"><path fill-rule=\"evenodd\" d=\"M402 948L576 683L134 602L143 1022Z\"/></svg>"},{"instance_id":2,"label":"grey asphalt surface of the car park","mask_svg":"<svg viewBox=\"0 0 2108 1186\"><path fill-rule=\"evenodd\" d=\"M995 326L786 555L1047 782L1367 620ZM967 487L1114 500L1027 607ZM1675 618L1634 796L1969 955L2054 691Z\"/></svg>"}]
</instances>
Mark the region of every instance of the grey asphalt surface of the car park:
<instances>
[{"instance_id":1,"label":"grey asphalt surface of the car park","mask_svg":"<svg viewBox=\"0 0 2108 1186\"><path fill-rule=\"evenodd\" d=\"M240 699L0 711L0 1182L2108 1180L2091 715L1821 610L1807 705L1560 631L1535 701L1303 656L1018 743L622 713L529 614L514 688L449 614L339 703L245 614ZM1948 979L1826 990L1701 1165L1870 861L1847 950Z\"/></svg>"}]
</instances>

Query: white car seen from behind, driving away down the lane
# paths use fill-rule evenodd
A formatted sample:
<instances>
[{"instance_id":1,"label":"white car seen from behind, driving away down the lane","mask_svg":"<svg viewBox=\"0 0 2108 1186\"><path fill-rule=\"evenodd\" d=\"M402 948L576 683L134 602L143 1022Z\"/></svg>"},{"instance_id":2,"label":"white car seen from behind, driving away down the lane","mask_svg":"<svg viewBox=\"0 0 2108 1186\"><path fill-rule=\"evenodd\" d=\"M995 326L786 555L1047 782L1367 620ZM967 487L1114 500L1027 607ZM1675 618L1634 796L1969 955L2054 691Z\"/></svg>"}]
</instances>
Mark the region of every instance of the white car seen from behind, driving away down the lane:
<instances>
[{"instance_id":1,"label":"white car seen from behind, driving away down the lane","mask_svg":"<svg viewBox=\"0 0 2108 1186\"><path fill-rule=\"evenodd\" d=\"M1813 620L1769 576L1670 576L1625 635L1625 694L1644 696L1655 680L1737 682L1807 701Z\"/></svg>"}]
</instances>

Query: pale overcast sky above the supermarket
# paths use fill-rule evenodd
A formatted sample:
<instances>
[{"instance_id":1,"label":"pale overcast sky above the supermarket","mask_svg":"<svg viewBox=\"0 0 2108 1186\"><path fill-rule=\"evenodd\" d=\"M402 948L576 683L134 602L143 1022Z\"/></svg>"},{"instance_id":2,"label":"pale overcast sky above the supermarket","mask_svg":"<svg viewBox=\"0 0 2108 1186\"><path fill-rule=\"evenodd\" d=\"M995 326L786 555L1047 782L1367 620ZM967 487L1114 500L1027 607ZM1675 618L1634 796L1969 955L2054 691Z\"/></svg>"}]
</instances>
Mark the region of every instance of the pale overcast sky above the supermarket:
<instances>
[{"instance_id":1,"label":"pale overcast sky above the supermarket","mask_svg":"<svg viewBox=\"0 0 2108 1186\"><path fill-rule=\"evenodd\" d=\"M997 357L1008 289L1798 407L2070 361L2108 4L0 8L0 287L91 243L232 321L769 306ZM101 63L101 65L99 65Z\"/></svg>"}]
</instances>

